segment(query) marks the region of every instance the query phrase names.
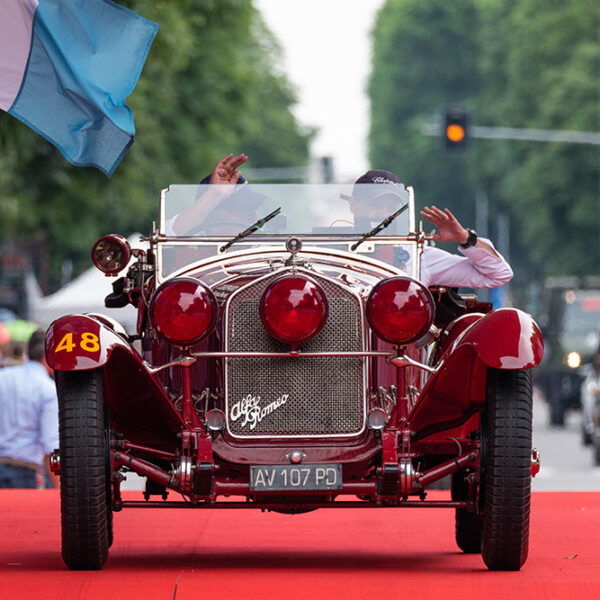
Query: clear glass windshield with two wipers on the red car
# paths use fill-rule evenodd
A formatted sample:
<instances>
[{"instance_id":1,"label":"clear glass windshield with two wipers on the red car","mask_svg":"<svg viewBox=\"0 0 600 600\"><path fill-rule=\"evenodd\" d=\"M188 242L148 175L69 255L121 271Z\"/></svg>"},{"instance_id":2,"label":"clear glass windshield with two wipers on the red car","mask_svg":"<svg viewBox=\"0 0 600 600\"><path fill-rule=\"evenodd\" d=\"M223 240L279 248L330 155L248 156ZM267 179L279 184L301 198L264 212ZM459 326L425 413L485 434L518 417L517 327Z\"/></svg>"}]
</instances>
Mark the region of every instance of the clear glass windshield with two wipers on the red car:
<instances>
[{"instance_id":1,"label":"clear glass windshield with two wipers on the red car","mask_svg":"<svg viewBox=\"0 0 600 600\"><path fill-rule=\"evenodd\" d=\"M161 195L159 280L219 255L284 251L292 235L305 251L360 254L414 276L414 231L403 184L171 185Z\"/></svg>"}]
</instances>

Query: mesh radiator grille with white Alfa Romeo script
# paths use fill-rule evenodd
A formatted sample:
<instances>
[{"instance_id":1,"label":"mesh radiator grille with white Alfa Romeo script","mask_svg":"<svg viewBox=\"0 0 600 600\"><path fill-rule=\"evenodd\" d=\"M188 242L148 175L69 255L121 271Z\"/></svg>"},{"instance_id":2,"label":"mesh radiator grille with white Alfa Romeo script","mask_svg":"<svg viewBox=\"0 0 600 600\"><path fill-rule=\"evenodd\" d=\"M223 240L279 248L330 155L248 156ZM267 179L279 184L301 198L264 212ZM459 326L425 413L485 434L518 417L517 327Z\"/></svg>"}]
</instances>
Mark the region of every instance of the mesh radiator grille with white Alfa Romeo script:
<instances>
[{"instance_id":1,"label":"mesh radiator grille with white Alfa Romeo script","mask_svg":"<svg viewBox=\"0 0 600 600\"><path fill-rule=\"evenodd\" d=\"M359 301L341 286L317 279L329 302L321 333L301 352L362 350ZM286 352L259 317L259 302L272 278L257 282L229 303L227 349L234 352ZM236 436L351 435L364 424L362 358L227 359L227 419Z\"/></svg>"}]
</instances>

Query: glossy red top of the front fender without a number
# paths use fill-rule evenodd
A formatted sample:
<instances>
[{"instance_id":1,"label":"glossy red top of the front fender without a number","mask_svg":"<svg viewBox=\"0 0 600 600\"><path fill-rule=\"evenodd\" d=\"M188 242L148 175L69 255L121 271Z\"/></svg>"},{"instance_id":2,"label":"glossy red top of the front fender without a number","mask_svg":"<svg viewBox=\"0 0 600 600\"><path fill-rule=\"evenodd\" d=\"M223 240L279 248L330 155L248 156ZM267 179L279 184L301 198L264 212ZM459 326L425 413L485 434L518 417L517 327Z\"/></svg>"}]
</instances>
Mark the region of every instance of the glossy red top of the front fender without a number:
<instances>
[{"instance_id":1,"label":"glossy red top of the front fender without a number","mask_svg":"<svg viewBox=\"0 0 600 600\"><path fill-rule=\"evenodd\" d=\"M469 345L481 361L495 369L531 369L544 356L544 341L537 323L517 308L501 308L474 323L450 352Z\"/></svg>"}]
</instances>

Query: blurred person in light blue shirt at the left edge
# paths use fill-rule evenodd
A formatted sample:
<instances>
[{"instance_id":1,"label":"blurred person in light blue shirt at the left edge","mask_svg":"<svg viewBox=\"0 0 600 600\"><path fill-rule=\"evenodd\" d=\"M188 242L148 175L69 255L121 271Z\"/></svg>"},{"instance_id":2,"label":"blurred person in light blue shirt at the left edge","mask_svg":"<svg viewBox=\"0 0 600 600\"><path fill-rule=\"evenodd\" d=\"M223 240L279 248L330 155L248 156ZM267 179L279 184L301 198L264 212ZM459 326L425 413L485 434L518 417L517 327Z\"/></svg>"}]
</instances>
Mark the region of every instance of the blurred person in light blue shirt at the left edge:
<instances>
[{"instance_id":1,"label":"blurred person in light blue shirt at the left edge","mask_svg":"<svg viewBox=\"0 0 600 600\"><path fill-rule=\"evenodd\" d=\"M0 369L0 488L37 488L58 448L58 400L44 356L44 332L27 344L27 361ZM52 487L58 477L50 475Z\"/></svg>"}]
</instances>

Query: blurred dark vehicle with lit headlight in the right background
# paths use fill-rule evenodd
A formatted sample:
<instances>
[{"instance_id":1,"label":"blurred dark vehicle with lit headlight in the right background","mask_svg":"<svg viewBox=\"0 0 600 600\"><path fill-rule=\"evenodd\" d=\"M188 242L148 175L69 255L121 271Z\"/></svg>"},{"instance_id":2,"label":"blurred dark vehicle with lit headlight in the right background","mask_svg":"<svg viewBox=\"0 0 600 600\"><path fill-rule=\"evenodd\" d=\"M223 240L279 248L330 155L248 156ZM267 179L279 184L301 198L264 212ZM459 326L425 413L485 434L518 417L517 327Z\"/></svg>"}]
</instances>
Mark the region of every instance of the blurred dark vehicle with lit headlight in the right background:
<instances>
[{"instance_id":1,"label":"blurred dark vehicle with lit headlight in the right background","mask_svg":"<svg viewBox=\"0 0 600 600\"><path fill-rule=\"evenodd\" d=\"M600 277L552 277L544 286L539 318L545 353L536 383L550 407L550 423L564 425L581 407L581 366L600 344Z\"/></svg>"}]
</instances>

